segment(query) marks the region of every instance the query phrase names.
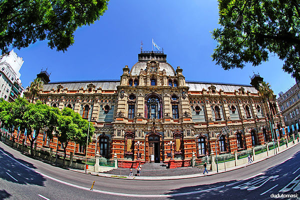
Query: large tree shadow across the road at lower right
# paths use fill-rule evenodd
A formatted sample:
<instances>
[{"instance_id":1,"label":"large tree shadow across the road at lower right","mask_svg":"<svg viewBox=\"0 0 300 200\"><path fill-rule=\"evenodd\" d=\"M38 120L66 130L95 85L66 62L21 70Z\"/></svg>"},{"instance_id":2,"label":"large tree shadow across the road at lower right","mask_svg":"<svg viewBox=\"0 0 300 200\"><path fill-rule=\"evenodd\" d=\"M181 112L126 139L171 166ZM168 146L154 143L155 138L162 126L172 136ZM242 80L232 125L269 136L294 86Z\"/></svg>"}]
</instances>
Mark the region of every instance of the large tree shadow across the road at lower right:
<instances>
[{"instance_id":1,"label":"large tree shadow across the road at lower right","mask_svg":"<svg viewBox=\"0 0 300 200\"><path fill-rule=\"evenodd\" d=\"M258 199L270 198L269 197L270 192L265 193L264 195L260 195L260 193L262 193L263 191L265 191L266 189L270 188L275 184L279 185L276 188L277 190L284 187L291 179L293 179L291 178L292 172L297 170L297 168L300 165L299 162L300 162L300 151L294 153L291 159L285 160L280 164L269 167L259 175L242 180L240 182L237 182L229 186L228 184L236 182L237 180L220 181L211 184L199 184L194 186L180 187L177 189L173 189L166 194L171 195L171 197L168 197L168 199L201 199L201 200L202 199L213 199L213 200L248 199L248 200L252 200L257 197ZM247 170L247 167L242 168L242 170ZM238 170L235 171L238 173ZM297 171L297 174L299 173L300 171ZM210 177L207 176L203 178L209 179ZM266 186L267 184L268 186ZM257 188L253 189L252 186ZM266 189L262 188L264 186L266 186L265 187ZM252 189L250 187L252 187ZM187 193L187 194L176 195L178 193ZM292 194L292 191L286 193Z\"/></svg>"}]
</instances>

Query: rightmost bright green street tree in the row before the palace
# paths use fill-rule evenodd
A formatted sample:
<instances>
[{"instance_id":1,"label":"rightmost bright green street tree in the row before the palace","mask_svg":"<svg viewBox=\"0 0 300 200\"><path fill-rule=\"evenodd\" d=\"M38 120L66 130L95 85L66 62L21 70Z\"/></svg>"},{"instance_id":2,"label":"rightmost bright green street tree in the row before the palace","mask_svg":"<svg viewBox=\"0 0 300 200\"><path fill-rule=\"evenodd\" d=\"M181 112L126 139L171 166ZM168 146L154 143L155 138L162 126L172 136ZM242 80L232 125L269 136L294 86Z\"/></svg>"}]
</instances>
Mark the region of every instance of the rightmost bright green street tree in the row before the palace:
<instances>
[{"instance_id":1,"label":"rightmost bright green street tree in the row before the palace","mask_svg":"<svg viewBox=\"0 0 300 200\"><path fill-rule=\"evenodd\" d=\"M62 145L64 156L63 163L66 157L66 148L69 141L74 141L79 144L84 144L87 138L88 121L83 119L77 112L71 108L64 107L61 115L58 118L57 138ZM89 126L89 140L94 132L94 127Z\"/></svg>"}]
</instances>

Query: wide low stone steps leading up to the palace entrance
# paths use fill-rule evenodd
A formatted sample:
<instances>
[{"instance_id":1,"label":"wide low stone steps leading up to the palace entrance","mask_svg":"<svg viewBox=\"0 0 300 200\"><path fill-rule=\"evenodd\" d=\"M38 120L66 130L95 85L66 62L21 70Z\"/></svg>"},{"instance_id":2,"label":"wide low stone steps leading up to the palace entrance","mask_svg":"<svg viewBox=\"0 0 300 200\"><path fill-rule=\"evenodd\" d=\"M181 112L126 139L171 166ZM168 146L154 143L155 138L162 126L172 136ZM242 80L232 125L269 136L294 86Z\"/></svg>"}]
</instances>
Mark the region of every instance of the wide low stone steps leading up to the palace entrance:
<instances>
[{"instance_id":1,"label":"wide low stone steps leading up to the palace entrance","mask_svg":"<svg viewBox=\"0 0 300 200\"><path fill-rule=\"evenodd\" d=\"M136 175L136 169L132 168L133 176ZM129 175L129 168L115 168L103 173L113 175ZM178 167L166 168L164 163L144 163L141 165L141 176L176 176L176 175L189 175L195 173L203 173L203 169L197 167Z\"/></svg>"}]
</instances>

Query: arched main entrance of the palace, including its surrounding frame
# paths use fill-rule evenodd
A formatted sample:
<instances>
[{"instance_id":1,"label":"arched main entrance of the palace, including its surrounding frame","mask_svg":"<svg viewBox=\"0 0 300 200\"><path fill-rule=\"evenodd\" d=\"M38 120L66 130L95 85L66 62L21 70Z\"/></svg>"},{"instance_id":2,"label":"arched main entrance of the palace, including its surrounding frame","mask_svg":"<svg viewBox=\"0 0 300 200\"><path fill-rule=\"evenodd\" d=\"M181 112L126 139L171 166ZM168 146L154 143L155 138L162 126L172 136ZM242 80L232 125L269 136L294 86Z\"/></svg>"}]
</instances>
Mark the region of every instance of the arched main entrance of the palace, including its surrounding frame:
<instances>
[{"instance_id":1,"label":"arched main entrance of the palace, including its surrounding frame","mask_svg":"<svg viewBox=\"0 0 300 200\"><path fill-rule=\"evenodd\" d=\"M161 135L157 133L149 133L146 135L146 161L148 162L160 162L161 161Z\"/></svg>"}]
</instances>

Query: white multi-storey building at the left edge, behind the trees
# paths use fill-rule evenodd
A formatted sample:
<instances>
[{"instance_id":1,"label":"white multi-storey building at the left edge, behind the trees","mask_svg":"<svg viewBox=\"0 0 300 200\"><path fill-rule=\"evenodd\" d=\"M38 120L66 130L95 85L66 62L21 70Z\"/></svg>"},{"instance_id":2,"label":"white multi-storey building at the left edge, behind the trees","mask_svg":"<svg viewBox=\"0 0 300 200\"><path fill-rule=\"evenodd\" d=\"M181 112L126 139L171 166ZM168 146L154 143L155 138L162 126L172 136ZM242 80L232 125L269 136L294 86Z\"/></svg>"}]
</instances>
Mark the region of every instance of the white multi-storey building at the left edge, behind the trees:
<instances>
[{"instance_id":1,"label":"white multi-storey building at the left edge, behind the trees","mask_svg":"<svg viewBox=\"0 0 300 200\"><path fill-rule=\"evenodd\" d=\"M23 58L11 50L8 54L0 55L0 98L9 102L23 95L24 88L20 80L20 68Z\"/></svg>"}]
</instances>

